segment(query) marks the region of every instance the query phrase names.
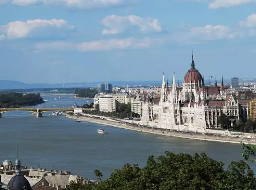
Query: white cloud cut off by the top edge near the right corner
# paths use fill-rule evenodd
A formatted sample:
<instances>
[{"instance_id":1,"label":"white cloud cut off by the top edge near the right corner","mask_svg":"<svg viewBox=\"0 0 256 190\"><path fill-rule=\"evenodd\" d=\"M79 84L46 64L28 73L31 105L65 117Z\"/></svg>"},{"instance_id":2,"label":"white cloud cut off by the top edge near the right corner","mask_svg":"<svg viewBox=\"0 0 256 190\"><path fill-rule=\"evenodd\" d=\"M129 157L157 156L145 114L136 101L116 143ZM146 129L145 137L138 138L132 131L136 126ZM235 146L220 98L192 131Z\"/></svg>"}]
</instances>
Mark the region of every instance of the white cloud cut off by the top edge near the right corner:
<instances>
[{"instance_id":1,"label":"white cloud cut off by the top edge near the right corner","mask_svg":"<svg viewBox=\"0 0 256 190\"><path fill-rule=\"evenodd\" d=\"M256 2L256 0L214 0L209 4L209 8L219 9L222 7L232 7L237 5L243 5L250 2Z\"/></svg>"}]
</instances>

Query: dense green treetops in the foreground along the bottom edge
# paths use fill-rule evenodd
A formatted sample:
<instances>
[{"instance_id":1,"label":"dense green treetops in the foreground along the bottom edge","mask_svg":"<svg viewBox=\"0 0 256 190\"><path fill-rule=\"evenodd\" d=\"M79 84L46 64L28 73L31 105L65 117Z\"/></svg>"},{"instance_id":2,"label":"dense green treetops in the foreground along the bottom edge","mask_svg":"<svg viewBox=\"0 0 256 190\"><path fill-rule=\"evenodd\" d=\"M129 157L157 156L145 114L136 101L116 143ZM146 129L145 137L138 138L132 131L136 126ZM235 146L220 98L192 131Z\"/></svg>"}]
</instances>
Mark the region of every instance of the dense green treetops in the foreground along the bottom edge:
<instances>
[{"instance_id":1,"label":"dense green treetops in the foreground along the bottom edge","mask_svg":"<svg viewBox=\"0 0 256 190\"><path fill-rule=\"evenodd\" d=\"M109 179L92 185L92 190L251 190L256 178L244 161L231 162L228 169L223 163L205 154L173 154L155 158L147 165L126 164L116 169ZM100 175L100 171L95 171ZM74 189L70 189L74 190Z\"/></svg>"}]
</instances>

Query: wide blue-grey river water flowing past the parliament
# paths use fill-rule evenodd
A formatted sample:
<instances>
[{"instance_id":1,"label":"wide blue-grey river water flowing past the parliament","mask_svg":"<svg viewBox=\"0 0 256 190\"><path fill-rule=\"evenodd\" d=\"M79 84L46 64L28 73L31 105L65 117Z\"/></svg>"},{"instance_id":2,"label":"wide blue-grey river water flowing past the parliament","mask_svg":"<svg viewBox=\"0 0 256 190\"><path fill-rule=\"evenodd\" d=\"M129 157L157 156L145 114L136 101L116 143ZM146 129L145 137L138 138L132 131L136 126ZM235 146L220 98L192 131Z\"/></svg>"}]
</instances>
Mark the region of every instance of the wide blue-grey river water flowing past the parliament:
<instances>
[{"instance_id":1,"label":"wide blue-grey river water flowing past the parliament","mask_svg":"<svg viewBox=\"0 0 256 190\"><path fill-rule=\"evenodd\" d=\"M54 100L57 98L57 100ZM68 96L45 96L48 102L37 107L70 107L74 103L90 104L92 100L73 99ZM87 102L89 101L89 102ZM239 144L200 141L147 134L92 123L78 123L64 116L36 118L26 111L11 111L0 119L0 160L16 159L16 145L22 165L47 170L71 171L89 179L96 179L99 169L106 179L124 164L147 162L149 155L159 156L165 151L173 153L206 153L209 157L228 164L242 160ZM107 134L98 134L103 127ZM251 165L251 164L250 164ZM256 171L256 167L251 165Z\"/></svg>"}]
</instances>

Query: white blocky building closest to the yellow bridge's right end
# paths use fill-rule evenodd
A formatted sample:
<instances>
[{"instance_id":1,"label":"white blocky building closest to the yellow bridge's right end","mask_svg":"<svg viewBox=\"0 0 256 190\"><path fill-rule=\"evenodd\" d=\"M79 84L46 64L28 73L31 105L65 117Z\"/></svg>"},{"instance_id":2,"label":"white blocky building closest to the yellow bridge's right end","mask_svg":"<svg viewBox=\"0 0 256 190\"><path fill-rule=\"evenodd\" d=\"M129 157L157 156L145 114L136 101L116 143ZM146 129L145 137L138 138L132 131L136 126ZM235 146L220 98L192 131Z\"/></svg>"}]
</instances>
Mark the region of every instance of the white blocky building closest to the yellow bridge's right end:
<instances>
[{"instance_id":1,"label":"white blocky building closest to the yellow bridge's right end","mask_svg":"<svg viewBox=\"0 0 256 190\"><path fill-rule=\"evenodd\" d=\"M100 104L100 111L104 111L104 112L116 111L116 101L112 94L100 96L99 104Z\"/></svg>"}]
</instances>

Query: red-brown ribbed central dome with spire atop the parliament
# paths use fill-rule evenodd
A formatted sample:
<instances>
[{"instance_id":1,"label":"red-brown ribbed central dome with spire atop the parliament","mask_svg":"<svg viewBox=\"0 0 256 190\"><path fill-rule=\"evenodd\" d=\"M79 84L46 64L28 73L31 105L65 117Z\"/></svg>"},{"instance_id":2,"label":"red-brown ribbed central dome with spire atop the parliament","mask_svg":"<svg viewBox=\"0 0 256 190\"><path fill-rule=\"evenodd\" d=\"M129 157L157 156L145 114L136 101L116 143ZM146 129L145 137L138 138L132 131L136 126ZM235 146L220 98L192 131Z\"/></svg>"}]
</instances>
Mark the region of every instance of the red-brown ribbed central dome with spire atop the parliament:
<instances>
[{"instance_id":1,"label":"red-brown ribbed central dome with spire atop the parliament","mask_svg":"<svg viewBox=\"0 0 256 190\"><path fill-rule=\"evenodd\" d=\"M191 69L184 76L183 83L197 83L198 81L199 83L201 83L203 81L203 77L199 73L199 71L194 67L194 56L192 55Z\"/></svg>"}]
</instances>

